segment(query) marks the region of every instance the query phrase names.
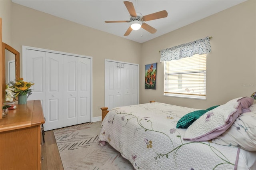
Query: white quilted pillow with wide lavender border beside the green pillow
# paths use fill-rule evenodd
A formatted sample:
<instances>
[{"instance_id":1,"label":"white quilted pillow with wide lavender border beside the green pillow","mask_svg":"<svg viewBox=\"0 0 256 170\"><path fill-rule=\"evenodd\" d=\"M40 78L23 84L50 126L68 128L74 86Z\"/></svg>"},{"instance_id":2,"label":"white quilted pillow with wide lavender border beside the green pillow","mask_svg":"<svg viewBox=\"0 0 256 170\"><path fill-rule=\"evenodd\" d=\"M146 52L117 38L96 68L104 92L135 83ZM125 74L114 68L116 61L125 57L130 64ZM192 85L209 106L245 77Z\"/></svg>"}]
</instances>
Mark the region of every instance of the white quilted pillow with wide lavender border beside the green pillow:
<instances>
[{"instance_id":1,"label":"white quilted pillow with wide lavender border beside the green pillow","mask_svg":"<svg viewBox=\"0 0 256 170\"><path fill-rule=\"evenodd\" d=\"M249 111L253 99L250 97L240 97L228 101L202 115L190 125L184 136L184 140L208 141L224 133L234 123L242 111Z\"/></svg>"}]
</instances>

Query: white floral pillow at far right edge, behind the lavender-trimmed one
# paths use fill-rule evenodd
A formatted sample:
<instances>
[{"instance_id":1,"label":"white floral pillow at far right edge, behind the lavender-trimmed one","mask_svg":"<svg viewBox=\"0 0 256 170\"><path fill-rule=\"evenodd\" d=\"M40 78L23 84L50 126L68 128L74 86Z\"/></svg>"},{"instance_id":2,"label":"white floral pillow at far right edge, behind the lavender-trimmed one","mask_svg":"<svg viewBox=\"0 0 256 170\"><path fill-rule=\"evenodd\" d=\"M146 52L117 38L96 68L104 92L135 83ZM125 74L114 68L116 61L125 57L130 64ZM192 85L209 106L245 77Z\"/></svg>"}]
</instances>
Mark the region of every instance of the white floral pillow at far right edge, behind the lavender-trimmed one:
<instances>
[{"instance_id":1,"label":"white floral pillow at far right edge, behind the lavender-trimmed one","mask_svg":"<svg viewBox=\"0 0 256 170\"><path fill-rule=\"evenodd\" d=\"M240 115L233 125L213 143L227 146L237 146L244 150L256 151L256 104L249 107L251 112Z\"/></svg>"}]
</instances>

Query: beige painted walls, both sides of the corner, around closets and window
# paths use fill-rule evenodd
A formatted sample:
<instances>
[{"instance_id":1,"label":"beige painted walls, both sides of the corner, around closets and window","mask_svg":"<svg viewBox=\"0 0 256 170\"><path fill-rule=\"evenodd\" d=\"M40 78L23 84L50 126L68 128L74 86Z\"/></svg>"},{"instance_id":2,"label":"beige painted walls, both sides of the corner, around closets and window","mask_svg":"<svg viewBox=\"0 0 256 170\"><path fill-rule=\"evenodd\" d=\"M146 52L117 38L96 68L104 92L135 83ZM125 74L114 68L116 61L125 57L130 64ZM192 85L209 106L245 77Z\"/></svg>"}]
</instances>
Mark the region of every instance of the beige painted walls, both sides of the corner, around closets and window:
<instances>
[{"instance_id":1,"label":"beige painted walls, both sides of the corner, around closets and window","mask_svg":"<svg viewBox=\"0 0 256 170\"><path fill-rule=\"evenodd\" d=\"M2 12L6 7L11 8L11 12ZM3 29L3 40L10 42L20 53L22 45L26 45L93 58L93 117L100 116L98 106L104 106L105 58L140 64L140 103L155 100L205 109L256 91L255 1L246 1L142 44L26 8L10 0L1 0L0 8L3 28L8 25L8 29ZM163 63L159 62L158 51L206 36L213 37L210 40L212 52L207 55L207 99L164 97ZM145 90L145 65L154 62L158 62L156 90Z\"/></svg>"}]
</instances>

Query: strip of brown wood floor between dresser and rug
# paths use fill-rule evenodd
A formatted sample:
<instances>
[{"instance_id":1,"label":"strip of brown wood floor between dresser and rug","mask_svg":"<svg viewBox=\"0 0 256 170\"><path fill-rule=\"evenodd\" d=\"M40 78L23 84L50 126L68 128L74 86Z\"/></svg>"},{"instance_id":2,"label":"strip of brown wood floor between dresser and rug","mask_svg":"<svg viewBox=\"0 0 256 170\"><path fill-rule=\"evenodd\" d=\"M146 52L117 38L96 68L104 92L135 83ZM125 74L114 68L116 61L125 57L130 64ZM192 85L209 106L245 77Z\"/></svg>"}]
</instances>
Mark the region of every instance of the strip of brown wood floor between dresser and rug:
<instances>
[{"instance_id":1,"label":"strip of brown wood floor between dresser and rug","mask_svg":"<svg viewBox=\"0 0 256 170\"><path fill-rule=\"evenodd\" d=\"M53 130L44 132L42 170L64 170Z\"/></svg>"}]
</instances>

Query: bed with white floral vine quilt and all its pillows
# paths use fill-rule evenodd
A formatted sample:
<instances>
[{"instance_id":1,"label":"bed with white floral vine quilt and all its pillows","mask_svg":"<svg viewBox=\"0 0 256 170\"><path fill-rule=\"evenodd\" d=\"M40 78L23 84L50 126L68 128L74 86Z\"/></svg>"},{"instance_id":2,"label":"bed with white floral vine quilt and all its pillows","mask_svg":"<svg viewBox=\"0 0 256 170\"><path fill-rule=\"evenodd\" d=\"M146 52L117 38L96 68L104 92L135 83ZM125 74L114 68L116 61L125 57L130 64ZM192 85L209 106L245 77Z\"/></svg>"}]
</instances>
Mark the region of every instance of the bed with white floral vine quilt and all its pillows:
<instances>
[{"instance_id":1,"label":"bed with white floral vine quilt and all its pillows","mask_svg":"<svg viewBox=\"0 0 256 170\"><path fill-rule=\"evenodd\" d=\"M108 142L135 169L255 170L253 102L252 98L240 97L204 113L157 102L109 111L103 107L99 142L102 146ZM192 120L193 113L201 115ZM181 120L187 128L177 128L184 125Z\"/></svg>"}]
</instances>

